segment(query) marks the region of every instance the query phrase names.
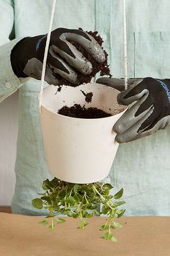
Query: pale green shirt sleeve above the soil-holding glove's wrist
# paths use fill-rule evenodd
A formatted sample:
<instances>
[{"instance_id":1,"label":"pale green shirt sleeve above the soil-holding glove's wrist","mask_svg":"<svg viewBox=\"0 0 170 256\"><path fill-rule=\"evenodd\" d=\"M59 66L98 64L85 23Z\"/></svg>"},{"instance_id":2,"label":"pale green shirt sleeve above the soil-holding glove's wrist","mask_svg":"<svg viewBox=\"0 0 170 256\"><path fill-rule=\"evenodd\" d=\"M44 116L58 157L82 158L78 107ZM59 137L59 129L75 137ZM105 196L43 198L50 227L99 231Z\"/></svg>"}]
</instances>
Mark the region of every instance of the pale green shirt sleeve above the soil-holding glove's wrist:
<instances>
[{"instance_id":1,"label":"pale green shirt sleeve above the soil-holding glove's wrist","mask_svg":"<svg viewBox=\"0 0 170 256\"><path fill-rule=\"evenodd\" d=\"M14 36L14 3L0 0L0 102L13 94L28 78L18 78L12 69L11 52L22 38L9 40Z\"/></svg>"}]
</instances>

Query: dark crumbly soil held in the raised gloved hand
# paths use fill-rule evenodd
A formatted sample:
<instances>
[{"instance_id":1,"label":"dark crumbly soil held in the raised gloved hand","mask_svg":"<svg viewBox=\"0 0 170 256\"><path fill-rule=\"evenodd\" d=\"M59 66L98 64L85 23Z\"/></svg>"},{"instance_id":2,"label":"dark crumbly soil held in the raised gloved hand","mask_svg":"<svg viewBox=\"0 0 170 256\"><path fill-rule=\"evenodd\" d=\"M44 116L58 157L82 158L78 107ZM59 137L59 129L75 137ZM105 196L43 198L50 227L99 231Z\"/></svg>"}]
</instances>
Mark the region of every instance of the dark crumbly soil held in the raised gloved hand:
<instances>
[{"instance_id":1,"label":"dark crumbly soil held in the raised gloved hand","mask_svg":"<svg viewBox=\"0 0 170 256\"><path fill-rule=\"evenodd\" d=\"M79 30L82 30L82 29L79 28ZM103 40L102 40L102 37L100 35L98 35L97 31L94 31L94 32L86 31L86 32L89 35L91 35L92 37L94 37L94 39L97 40L99 45L102 46ZM61 84L65 84L65 85L68 85L68 86L71 86L71 87L77 87L77 86L79 86L80 84L83 84L83 83L87 84L91 81L92 77L94 77L99 71L100 71L100 76L104 76L104 75L112 76L110 74L109 65L107 63L108 54L105 50L104 50L104 54L106 56L105 61L103 63L98 63L94 60L94 58L89 53L86 52L86 50L84 50L84 48L81 45L78 45L77 43L75 43L73 41L70 41L70 42L72 43L72 45L74 45L76 47L77 50L79 50L81 53L83 53L83 55L88 59L88 61L91 62L92 66L93 66L93 70L92 70L91 74L89 74L89 75L81 74L81 72L76 70L76 73L79 76L79 84L71 84L66 79L63 79L62 76L56 74L55 76L57 77L57 79L59 79L61 81ZM58 90L58 92L60 92L60 91Z\"/></svg>"}]
</instances>

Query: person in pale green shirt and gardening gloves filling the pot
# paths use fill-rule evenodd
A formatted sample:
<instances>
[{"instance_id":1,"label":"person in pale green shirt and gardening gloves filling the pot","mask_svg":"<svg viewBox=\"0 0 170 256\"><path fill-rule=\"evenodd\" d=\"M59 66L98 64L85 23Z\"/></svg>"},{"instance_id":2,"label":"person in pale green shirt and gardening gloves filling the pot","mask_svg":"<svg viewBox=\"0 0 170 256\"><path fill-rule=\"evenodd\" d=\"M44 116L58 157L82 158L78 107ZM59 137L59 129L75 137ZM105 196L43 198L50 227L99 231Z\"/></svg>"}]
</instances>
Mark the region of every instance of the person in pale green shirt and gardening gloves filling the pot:
<instances>
[{"instance_id":1,"label":"person in pale green shirt and gardening gloves filling the pot","mask_svg":"<svg viewBox=\"0 0 170 256\"><path fill-rule=\"evenodd\" d=\"M127 1L128 76L137 79L129 80L128 91L118 97L121 104L133 106L114 127L121 144L105 180L112 182L115 191L124 187L127 216L169 216L169 7L168 0ZM12 212L26 215L46 214L32 208L31 201L41 192L42 180L53 178L45 160L37 100L51 8L52 1L45 0L0 1L0 101L19 90ZM90 63L86 66L84 57L78 58L78 53L75 56L71 47L67 47L68 37L80 39L78 27L85 31L97 30L102 35L114 78L97 82L121 91L122 1L117 0L57 1L48 53L48 61L53 63L48 63L45 80L57 86L60 81L54 73L58 73L76 83L79 79L76 69L91 71ZM81 34L82 37L86 35ZM85 39L83 43L80 40L83 45ZM95 48L91 45L94 58ZM102 51L99 46L96 49L100 55L98 61L102 61ZM57 57L56 53L59 53ZM81 68L73 63L75 57Z\"/></svg>"}]
</instances>

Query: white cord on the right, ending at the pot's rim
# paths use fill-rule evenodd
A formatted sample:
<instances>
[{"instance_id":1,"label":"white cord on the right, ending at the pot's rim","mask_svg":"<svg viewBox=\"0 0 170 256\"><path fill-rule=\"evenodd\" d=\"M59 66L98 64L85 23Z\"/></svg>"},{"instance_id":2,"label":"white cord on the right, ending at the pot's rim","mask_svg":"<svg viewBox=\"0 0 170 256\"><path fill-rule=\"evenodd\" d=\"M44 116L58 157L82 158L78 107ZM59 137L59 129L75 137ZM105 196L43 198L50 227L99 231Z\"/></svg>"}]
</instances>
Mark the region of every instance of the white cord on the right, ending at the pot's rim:
<instances>
[{"instance_id":1,"label":"white cord on the right, ending at the pot's rim","mask_svg":"<svg viewBox=\"0 0 170 256\"><path fill-rule=\"evenodd\" d=\"M126 0L122 0L122 13L123 13L123 48L124 48L125 89L128 89L128 59L127 59L127 33L126 33Z\"/></svg>"}]
</instances>

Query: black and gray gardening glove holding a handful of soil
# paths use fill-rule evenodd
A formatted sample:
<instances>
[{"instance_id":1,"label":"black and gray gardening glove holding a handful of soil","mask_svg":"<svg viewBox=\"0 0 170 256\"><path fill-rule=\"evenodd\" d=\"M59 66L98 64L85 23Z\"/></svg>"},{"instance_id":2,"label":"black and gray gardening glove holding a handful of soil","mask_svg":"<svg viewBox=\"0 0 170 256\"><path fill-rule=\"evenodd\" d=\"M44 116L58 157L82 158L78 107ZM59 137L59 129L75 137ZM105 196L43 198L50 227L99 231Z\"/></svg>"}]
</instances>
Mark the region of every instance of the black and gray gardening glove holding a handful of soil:
<instances>
[{"instance_id":1,"label":"black and gray gardening glove holding a handful of soil","mask_svg":"<svg viewBox=\"0 0 170 256\"><path fill-rule=\"evenodd\" d=\"M41 79L46 40L47 35L25 37L15 45L11 54L11 62L14 73L18 77L31 76L38 80ZM53 30L45 74L45 81L48 84L61 84L60 79L55 77L56 74L71 84L78 84L79 77L76 71L86 75L91 73L93 68L91 62L70 41L81 45L98 63L105 60L101 46L86 32L66 28Z\"/></svg>"}]
</instances>

